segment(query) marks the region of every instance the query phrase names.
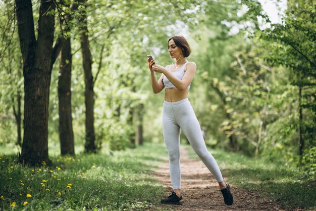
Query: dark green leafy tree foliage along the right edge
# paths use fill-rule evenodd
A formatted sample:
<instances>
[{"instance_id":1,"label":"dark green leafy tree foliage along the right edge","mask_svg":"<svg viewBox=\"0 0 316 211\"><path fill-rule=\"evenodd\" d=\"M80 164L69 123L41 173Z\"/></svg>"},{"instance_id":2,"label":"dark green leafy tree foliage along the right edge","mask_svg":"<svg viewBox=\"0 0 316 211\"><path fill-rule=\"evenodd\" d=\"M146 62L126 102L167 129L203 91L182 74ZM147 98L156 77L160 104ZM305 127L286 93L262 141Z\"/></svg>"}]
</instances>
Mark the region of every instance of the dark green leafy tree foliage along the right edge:
<instances>
[{"instance_id":1,"label":"dark green leafy tree foliage along the right edge","mask_svg":"<svg viewBox=\"0 0 316 211\"><path fill-rule=\"evenodd\" d=\"M291 71L291 82L302 89L299 96L299 108L302 109L302 121L297 121L294 130L300 130L303 139L303 155L300 164L311 175L315 175L314 146L316 145L316 60L315 31L316 5L301 1L302 4L289 2L289 9L282 24L273 24L272 28L260 33L268 40L270 54L266 60L274 65L284 65Z\"/></svg>"}]
</instances>

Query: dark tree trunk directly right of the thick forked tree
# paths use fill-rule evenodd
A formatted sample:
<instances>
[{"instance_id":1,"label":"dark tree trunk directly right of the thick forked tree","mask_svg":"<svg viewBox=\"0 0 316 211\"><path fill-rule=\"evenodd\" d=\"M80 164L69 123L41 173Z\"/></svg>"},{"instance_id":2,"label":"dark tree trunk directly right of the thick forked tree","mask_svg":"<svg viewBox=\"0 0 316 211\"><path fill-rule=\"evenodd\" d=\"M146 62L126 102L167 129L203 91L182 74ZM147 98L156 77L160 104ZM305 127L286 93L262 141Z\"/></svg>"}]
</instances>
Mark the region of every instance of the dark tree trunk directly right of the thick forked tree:
<instances>
[{"instance_id":1,"label":"dark tree trunk directly right of the thick forked tree","mask_svg":"<svg viewBox=\"0 0 316 211\"><path fill-rule=\"evenodd\" d=\"M60 54L60 75L58 80L59 138L62 155L75 154L71 115L71 65L71 41L70 38L67 38L64 41Z\"/></svg>"}]
</instances>

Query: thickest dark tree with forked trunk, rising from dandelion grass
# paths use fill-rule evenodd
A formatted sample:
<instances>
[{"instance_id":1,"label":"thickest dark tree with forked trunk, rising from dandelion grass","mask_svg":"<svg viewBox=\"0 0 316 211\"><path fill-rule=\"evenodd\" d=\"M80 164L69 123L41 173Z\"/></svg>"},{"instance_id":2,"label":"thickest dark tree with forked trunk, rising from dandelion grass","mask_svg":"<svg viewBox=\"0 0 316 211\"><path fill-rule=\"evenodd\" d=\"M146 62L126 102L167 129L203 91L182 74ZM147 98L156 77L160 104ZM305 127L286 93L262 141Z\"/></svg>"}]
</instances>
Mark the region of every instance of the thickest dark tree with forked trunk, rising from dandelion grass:
<instances>
[{"instance_id":1,"label":"thickest dark tree with forked trunk, rising from dandelion grass","mask_svg":"<svg viewBox=\"0 0 316 211\"><path fill-rule=\"evenodd\" d=\"M54 43L55 4L41 0L37 39L31 0L16 0L18 34L23 58L24 76L24 140L19 161L37 164L48 158L48 104L51 69L60 51Z\"/></svg>"}]
</instances>

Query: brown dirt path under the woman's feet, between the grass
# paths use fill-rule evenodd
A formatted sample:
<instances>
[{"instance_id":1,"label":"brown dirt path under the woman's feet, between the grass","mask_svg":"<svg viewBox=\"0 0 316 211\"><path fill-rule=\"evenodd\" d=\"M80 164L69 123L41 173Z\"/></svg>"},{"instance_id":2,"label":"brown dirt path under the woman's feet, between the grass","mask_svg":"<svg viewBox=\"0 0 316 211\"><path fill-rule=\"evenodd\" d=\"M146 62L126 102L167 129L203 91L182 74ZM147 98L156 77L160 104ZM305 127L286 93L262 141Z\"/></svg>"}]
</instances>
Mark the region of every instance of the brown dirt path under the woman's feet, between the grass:
<instances>
[{"instance_id":1,"label":"brown dirt path under the woman's feet, between the grass","mask_svg":"<svg viewBox=\"0 0 316 211\"><path fill-rule=\"evenodd\" d=\"M177 211L283 210L270 199L259 196L257 193L241 190L234 184L230 184L234 195L234 204L232 206L225 205L217 181L201 161L188 158L188 152L185 148L181 148L181 170L183 204L161 204L159 208ZM169 195L172 188L168 160L155 171L154 178L166 187L166 196Z\"/></svg>"}]
</instances>

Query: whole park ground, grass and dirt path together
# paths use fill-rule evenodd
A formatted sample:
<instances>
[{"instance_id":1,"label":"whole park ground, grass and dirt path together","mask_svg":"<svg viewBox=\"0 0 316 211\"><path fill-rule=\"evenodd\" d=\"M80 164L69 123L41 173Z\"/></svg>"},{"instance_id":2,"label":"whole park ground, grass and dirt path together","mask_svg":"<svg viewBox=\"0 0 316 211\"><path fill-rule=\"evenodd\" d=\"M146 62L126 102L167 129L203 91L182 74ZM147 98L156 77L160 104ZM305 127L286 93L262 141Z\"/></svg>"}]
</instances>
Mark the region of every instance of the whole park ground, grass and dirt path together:
<instances>
[{"instance_id":1,"label":"whole park ground, grass and dirt path together","mask_svg":"<svg viewBox=\"0 0 316 211\"><path fill-rule=\"evenodd\" d=\"M3 148L4 149L4 148ZM316 183L298 168L212 149L231 185L224 204L216 180L188 145L181 148L182 205L165 205L171 183L163 144L75 157L52 156L52 166L25 167L1 154L1 210L315 210ZM8 150L6 151L8 153Z\"/></svg>"}]
</instances>

